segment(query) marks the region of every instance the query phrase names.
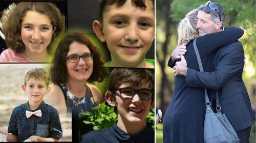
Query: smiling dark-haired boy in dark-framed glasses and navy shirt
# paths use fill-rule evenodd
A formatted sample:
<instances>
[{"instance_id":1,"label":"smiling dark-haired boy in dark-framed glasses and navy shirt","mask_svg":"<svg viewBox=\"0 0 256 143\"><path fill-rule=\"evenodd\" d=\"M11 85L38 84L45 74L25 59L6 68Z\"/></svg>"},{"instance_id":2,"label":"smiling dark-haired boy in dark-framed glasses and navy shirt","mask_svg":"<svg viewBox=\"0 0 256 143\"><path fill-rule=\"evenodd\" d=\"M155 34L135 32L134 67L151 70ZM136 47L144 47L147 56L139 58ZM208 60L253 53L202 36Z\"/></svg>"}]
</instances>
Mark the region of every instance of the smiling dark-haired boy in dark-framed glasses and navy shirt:
<instances>
[{"instance_id":1,"label":"smiling dark-haired boy in dark-framed glasses and navy shirt","mask_svg":"<svg viewBox=\"0 0 256 143\"><path fill-rule=\"evenodd\" d=\"M116 108L117 123L83 135L81 142L155 142L154 130L146 122L155 99L152 71L113 69L105 99Z\"/></svg>"}]
</instances>

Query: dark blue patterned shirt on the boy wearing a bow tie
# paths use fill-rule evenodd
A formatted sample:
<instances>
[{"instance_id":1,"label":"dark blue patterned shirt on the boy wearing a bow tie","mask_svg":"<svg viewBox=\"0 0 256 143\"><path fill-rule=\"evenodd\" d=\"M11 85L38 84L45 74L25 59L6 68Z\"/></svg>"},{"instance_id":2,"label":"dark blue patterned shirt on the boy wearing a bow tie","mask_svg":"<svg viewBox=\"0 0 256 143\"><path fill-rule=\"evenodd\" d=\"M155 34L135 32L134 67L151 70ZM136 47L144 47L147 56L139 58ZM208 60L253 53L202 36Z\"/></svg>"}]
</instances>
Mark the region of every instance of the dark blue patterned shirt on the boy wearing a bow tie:
<instances>
[{"instance_id":1,"label":"dark blue patterned shirt on the boy wearing a bow tie","mask_svg":"<svg viewBox=\"0 0 256 143\"><path fill-rule=\"evenodd\" d=\"M26 110L36 111L39 109L42 112L41 117L35 115L32 115L30 118L26 117ZM24 141L32 135L61 138L62 130L59 113L54 107L46 104L44 101L35 110L29 108L28 102L24 103L13 109L8 133L17 135L19 141Z\"/></svg>"}]
</instances>

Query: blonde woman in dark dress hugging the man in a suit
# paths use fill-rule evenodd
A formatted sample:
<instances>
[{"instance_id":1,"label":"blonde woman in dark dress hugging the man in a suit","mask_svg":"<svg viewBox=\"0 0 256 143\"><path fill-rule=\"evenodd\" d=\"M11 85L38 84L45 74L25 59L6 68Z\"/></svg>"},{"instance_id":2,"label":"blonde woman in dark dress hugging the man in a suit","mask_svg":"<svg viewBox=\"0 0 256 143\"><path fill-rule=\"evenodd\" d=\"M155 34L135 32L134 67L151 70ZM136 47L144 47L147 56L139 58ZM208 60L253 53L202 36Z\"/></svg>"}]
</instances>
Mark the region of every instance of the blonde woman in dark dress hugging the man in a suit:
<instances>
[{"instance_id":1,"label":"blonde woman in dark dress hugging the man in a suit","mask_svg":"<svg viewBox=\"0 0 256 143\"><path fill-rule=\"evenodd\" d=\"M217 11L208 7L209 11L216 13ZM185 68L193 69L193 71L200 71L197 57L195 54L193 41L197 39L196 44L201 56L204 71L213 70L212 57L214 51L222 46L228 45L238 40L243 35L243 30L238 27L230 27L225 31L221 31L222 25L216 24L216 28L220 30L217 33L205 34L199 37L197 24L204 22L208 24L208 21L202 19L198 20L199 10L195 9L190 11L179 23L178 31L178 48L179 46L186 46L185 51L180 51L178 56L181 57L182 62L186 60ZM218 15L216 13L216 15ZM210 18L210 15L208 15ZM220 18L218 17L219 21ZM209 19L214 25L214 21ZM218 27L219 26L219 27ZM200 32L200 31L199 31ZM183 45L182 45L183 44ZM173 51L173 53L175 52ZM184 53L183 53L184 52ZM183 54L185 54L183 56ZM163 140L164 142L175 142L175 143L203 143L203 127L205 117L205 94L204 89L199 88L198 85L186 84L186 78L179 76L176 70L177 66L181 62L174 54L168 62L169 67L174 67L175 72L175 87L172 101L165 112L163 119ZM218 77L217 77L218 78ZM209 95L212 99L214 95ZM212 101L212 100L211 100Z\"/></svg>"}]
</instances>

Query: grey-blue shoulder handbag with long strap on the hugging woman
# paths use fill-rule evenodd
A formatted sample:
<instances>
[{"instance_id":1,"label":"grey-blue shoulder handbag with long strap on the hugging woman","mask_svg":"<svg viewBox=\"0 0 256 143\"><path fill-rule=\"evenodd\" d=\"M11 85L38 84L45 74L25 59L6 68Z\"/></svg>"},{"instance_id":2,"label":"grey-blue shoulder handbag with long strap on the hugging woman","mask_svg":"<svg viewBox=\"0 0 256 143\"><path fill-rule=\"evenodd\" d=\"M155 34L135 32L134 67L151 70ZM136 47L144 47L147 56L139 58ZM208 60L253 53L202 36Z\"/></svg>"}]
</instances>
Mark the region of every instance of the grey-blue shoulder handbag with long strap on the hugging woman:
<instances>
[{"instance_id":1,"label":"grey-blue shoulder handbag with long strap on the hugging woman","mask_svg":"<svg viewBox=\"0 0 256 143\"><path fill-rule=\"evenodd\" d=\"M204 72L199 51L196 44L196 39L193 42L193 46L197 55L199 69L201 72ZM221 106L219 102L218 91L216 95L217 113L212 111L210 107L210 101L209 101L206 89L204 89L204 92L205 92L205 105L206 105L206 112L205 112L205 119L204 119L204 142L205 143L239 143L240 140L237 136L236 131L233 129L233 127L229 123L225 114L221 113Z\"/></svg>"}]
</instances>

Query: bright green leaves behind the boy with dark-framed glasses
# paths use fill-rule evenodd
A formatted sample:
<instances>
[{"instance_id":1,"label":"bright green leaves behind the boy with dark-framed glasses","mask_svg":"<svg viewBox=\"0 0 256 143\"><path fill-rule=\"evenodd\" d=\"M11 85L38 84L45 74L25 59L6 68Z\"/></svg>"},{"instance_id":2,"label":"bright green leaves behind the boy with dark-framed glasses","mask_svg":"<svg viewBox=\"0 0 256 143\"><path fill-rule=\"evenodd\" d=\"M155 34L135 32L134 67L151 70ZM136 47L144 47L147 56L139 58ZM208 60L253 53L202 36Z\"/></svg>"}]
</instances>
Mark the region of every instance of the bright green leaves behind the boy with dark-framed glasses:
<instances>
[{"instance_id":1,"label":"bright green leaves behind the boy with dark-framed glasses","mask_svg":"<svg viewBox=\"0 0 256 143\"><path fill-rule=\"evenodd\" d=\"M117 121L115 108L106 105L105 101L90 111L82 112L81 115L87 116L83 123L92 124L94 130L109 128ZM155 109L148 112L146 120L152 125L152 129L155 129Z\"/></svg>"}]
</instances>

